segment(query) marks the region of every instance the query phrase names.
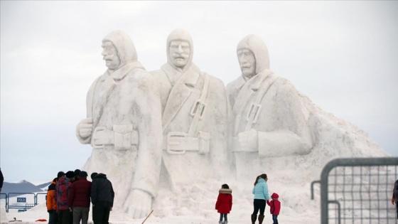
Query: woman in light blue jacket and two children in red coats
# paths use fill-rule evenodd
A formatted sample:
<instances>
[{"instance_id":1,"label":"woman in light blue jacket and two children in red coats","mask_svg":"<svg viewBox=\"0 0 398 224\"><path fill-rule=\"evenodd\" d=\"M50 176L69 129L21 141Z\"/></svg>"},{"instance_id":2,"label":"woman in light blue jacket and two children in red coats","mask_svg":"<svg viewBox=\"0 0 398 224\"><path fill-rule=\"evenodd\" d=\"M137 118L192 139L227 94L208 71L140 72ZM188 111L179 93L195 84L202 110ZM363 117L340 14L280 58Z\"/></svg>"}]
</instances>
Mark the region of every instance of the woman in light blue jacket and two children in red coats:
<instances>
[{"instance_id":1,"label":"woman in light blue jacket and two children in red coats","mask_svg":"<svg viewBox=\"0 0 398 224\"><path fill-rule=\"evenodd\" d=\"M252 190L252 193L254 194L252 224L256 223L257 214L259 212L260 214L258 216L258 220L259 224L262 224L264 220L266 204L269 206L269 212L272 215L273 223L278 224L278 215L279 211L281 210L281 202L279 201L279 195L277 193L272 193L272 200L270 200L267 181L267 174L261 174L256 177L256 181L254 182L254 188ZM217 209L217 212L220 213L219 224L227 224L227 214L232 210L232 189L230 189L226 183L222 184L220 191L218 191L215 209Z\"/></svg>"}]
</instances>

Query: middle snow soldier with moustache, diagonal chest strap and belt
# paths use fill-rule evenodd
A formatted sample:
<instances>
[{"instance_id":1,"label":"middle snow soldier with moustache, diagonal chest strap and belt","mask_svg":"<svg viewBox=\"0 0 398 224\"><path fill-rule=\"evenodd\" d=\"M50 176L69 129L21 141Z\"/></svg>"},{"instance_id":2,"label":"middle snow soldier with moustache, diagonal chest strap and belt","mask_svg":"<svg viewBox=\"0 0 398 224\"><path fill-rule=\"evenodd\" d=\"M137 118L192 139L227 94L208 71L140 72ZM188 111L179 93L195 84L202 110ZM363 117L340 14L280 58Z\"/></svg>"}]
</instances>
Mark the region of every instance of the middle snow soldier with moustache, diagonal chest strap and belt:
<instances>
[{"instance_id":1,"label":"middle snow soldier with moustache, diagonal chest strap and belt","mask_svg":"<svg viewBox=\"0 0 398 224\"><path fill-rule=\"evenodd\" d=\"M168 63L151 74L161 95L161 176L178 192L217 178L220 168L225 169L227 96L221 80L192 62L193 41L187 31L172 31L166 52Z\"/></svg>"}]
</instances>

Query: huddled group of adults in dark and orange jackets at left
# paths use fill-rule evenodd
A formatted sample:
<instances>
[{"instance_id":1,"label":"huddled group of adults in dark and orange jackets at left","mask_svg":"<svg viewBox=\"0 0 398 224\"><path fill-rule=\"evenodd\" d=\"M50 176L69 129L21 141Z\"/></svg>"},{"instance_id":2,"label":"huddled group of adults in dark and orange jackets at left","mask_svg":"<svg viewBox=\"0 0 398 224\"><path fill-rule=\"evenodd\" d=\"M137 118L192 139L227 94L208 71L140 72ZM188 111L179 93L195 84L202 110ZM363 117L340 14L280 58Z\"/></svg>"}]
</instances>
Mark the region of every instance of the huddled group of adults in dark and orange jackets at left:
<instances>
[{"instance_id":1,"label":"huddled group of adults in dark and orange jackets at left","mask_svg":"<svg viewBox=\"0 0 398 224\"><path fill-rule=\"evenodd\" d=\"M108 224L113 207L114 191L106 174L76 169L64 173L59 171L47 192L48 224L87 224L92 203L92 221Z\"/></svg>"}]
</instances>

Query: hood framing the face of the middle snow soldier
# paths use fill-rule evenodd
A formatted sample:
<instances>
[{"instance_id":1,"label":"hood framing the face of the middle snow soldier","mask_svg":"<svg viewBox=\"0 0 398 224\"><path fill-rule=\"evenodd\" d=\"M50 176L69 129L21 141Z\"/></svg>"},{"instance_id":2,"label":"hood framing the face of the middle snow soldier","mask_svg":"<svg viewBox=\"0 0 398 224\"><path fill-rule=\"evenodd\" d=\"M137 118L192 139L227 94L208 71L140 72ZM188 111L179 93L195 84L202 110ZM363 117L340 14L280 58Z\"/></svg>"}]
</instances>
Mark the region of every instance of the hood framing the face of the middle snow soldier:
<instances>
[{"instance_id":1,"label":"hood framing the face of the middle snow soldier","mask_svg":"<svg viewBox=\"0 0 398 224\"><path fill-rule=\"evenodd\" d=\"M186 65L183 68L183 71L187 70L188 68L190 68L190 65L192 64L192 58L193 58L193 41L192 41L192 37L190 36L188 31L185 31L183 28L176 28L175 30L171 31L171 33L168 35L167 43L166 43L167 62L171 66L173 66L173 68L178 69L171 62L171 57L170 57L170 43L171 43L171 41L186 41L186 42L189 43L190 54L189 54L188 61L187 61Z\"/></svg>"}]
</instances>

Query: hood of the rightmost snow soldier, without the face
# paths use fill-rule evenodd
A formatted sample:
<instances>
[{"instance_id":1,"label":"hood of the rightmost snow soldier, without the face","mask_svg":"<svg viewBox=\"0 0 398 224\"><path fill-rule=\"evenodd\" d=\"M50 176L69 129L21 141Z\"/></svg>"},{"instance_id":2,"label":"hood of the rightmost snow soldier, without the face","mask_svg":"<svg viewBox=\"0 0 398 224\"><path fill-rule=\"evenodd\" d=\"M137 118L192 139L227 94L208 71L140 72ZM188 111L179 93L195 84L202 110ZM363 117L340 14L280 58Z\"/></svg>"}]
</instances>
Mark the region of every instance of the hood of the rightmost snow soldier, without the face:
<instances>
[{"instance_id":1,"label":"hood of the rightmost snow soldier, without the face","mask_svg":"<svg viewBox=\"0 0 398 224\"><path fill-rule=\"evenodd\" d=\"M268 48L264 41L262 41L262 38L254 34L245 36L242 41L237 44L237 50L244 48L252 50L254 58L256 58L256 74L269 69Z\"/></svg>"}]
</instances>

